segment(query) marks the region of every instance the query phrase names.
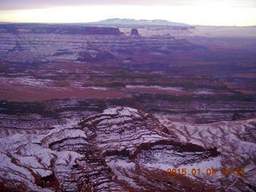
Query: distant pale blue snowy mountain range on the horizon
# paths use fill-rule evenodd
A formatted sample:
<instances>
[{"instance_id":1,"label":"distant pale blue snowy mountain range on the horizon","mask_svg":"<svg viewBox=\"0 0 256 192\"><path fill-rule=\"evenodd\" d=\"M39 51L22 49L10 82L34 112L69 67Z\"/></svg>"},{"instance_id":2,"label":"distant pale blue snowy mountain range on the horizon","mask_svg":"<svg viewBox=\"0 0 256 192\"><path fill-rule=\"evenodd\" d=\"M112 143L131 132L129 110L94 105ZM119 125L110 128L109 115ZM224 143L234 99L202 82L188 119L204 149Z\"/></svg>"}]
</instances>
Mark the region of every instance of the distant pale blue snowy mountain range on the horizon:
<instances>
[{"instance_id":1,"label":"distant pale blue snowy mountain range on the horizon","mask_svg":"<svg viewBox=\"0 0 256 192\"><path fill-rule=\"evenodd\" d=\"M108 18L97 24L103 25L127 25L127 26L188 26L185 23L169 22L162 19L146 20L146 19L132 19L132 18Z\"/></svg>"}]
</instances>

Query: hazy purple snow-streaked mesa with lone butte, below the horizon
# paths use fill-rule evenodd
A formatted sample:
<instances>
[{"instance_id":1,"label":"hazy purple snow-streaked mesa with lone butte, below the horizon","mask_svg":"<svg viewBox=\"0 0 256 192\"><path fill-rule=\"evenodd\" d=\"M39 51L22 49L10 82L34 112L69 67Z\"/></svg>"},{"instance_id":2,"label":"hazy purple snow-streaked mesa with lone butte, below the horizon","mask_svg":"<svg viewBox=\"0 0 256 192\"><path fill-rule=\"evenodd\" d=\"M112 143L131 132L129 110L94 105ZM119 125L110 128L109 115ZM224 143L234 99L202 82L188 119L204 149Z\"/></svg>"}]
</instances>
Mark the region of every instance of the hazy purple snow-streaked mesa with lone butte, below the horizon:
<instances>
[{"instance_id":1,"label":"hazy purple snow-streaked mesa with lone butte, below the horizon","mask_svg":"<svg viewBox=\"0 0 256 192\"><path fill-rule=\"evenodd\" d=\"M92 58L105 51L113 54L111 57L125 59L132 54L138 60L144 54L153 58L159 57L159 54L173 58L176 52L185 51L188 54L193 50L200 53L206 51L203 46L171 36L145 38L135 29L132 35L126 36L114 27L5 24L0 25L0 36L2 61L22 62L26 65L59 61L98 61Z\"/></svg>"}]
</instances>

